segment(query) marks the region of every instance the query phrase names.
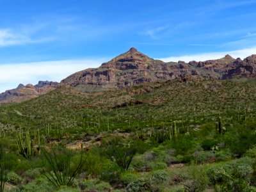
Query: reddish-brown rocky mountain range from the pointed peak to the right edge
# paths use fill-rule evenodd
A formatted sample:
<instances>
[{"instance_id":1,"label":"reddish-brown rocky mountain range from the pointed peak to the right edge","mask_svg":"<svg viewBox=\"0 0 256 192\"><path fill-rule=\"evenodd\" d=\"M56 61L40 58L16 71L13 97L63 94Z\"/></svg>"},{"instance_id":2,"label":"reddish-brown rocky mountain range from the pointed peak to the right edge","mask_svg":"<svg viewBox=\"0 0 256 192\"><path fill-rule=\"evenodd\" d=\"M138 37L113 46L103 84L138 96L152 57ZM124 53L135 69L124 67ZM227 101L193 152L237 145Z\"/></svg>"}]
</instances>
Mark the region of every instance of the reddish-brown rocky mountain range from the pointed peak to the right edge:
<instances>
[{"instance_id":1,"label":"reddish-brown rocky mountain range from the pointed peak to the right edge","mask_svg":"<svg viewBox=\"0 0 256 192\"><path fill-rule=\"evenodd\" d=\"M68 76L60 84L67 84L84 92L100 92L134 84L166 81L179 76L207 79L254 77L255 69L256 55L243 61L226 55L218 60L164 63L131 48L113 60L102 63L99 68L88 68Z\"/></svg>"}]
</instances>

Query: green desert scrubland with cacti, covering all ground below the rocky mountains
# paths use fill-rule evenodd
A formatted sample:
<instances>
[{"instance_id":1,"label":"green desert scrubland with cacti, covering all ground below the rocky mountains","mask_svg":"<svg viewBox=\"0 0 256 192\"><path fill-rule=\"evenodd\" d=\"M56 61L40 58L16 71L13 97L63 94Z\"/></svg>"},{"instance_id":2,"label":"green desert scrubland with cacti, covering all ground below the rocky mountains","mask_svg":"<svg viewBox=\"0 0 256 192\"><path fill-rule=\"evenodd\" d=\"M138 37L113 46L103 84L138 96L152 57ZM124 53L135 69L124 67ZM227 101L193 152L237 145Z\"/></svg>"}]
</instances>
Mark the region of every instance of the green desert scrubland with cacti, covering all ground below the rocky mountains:
<instances>
[{"instance_id":1,"label":"green desert scrubland with cacti, covering all ground below the rocky mountains","mask_svg":"<svg viewBox=\"0 0 256 192\"><path fill-rule=\"evenodd\" d=\"M256 191L255 79L0 106L0 191Z\"/></svg>"}]
</instances>

